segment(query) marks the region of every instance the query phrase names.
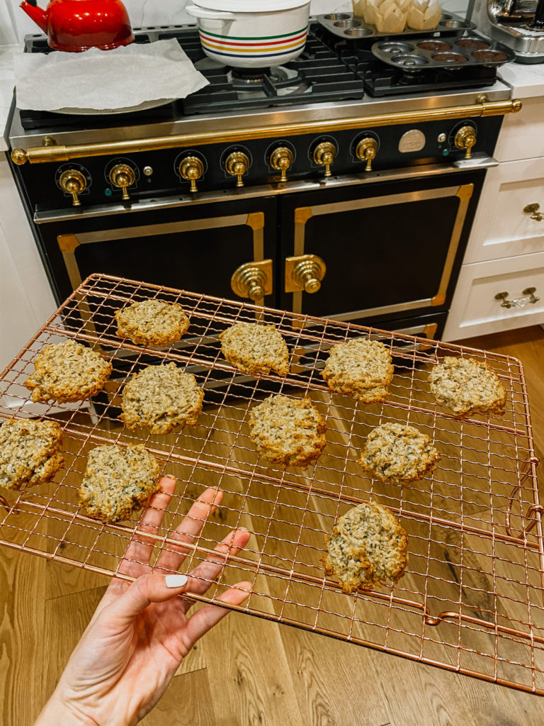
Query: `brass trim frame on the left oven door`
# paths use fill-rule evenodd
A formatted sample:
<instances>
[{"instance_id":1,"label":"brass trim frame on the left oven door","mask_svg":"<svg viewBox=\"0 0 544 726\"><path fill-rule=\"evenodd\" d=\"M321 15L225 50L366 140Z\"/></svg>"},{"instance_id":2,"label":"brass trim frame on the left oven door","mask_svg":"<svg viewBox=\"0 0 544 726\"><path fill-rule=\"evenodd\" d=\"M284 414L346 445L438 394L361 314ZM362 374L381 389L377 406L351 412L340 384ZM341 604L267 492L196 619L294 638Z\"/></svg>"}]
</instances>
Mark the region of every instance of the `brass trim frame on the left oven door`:
<instances>
[{"instance_id":1,"label":"brass trim frame on the left oven door","mask_svg":"<svg viewBox=\"0 0 544 726\"><path fill-rule=\"evenodd\" d=\"M225 217L210 217L206 219L189 219L187 221L167 222L165 224L142 224L138 227L123 227L122 229L102 229L97 232L80 232L78 234L59 234L57 243L65 261L66 272L70 284L75 290L81 285L81 271L75 257L75 250L80 245L89 245L94 242L115 242L136 237L151 237L153 234L172 234L173 232L194 232L196 229L213 229L215 227L236 227L245 225L253 232L253 262L261 262L264 258L264 224L263 212L234 214ZM233 271L234 272L234 271ZM228 273L226 273L228 274ZM264 299L257 301L263 305Z\"/></svg>"}]
</instances>

